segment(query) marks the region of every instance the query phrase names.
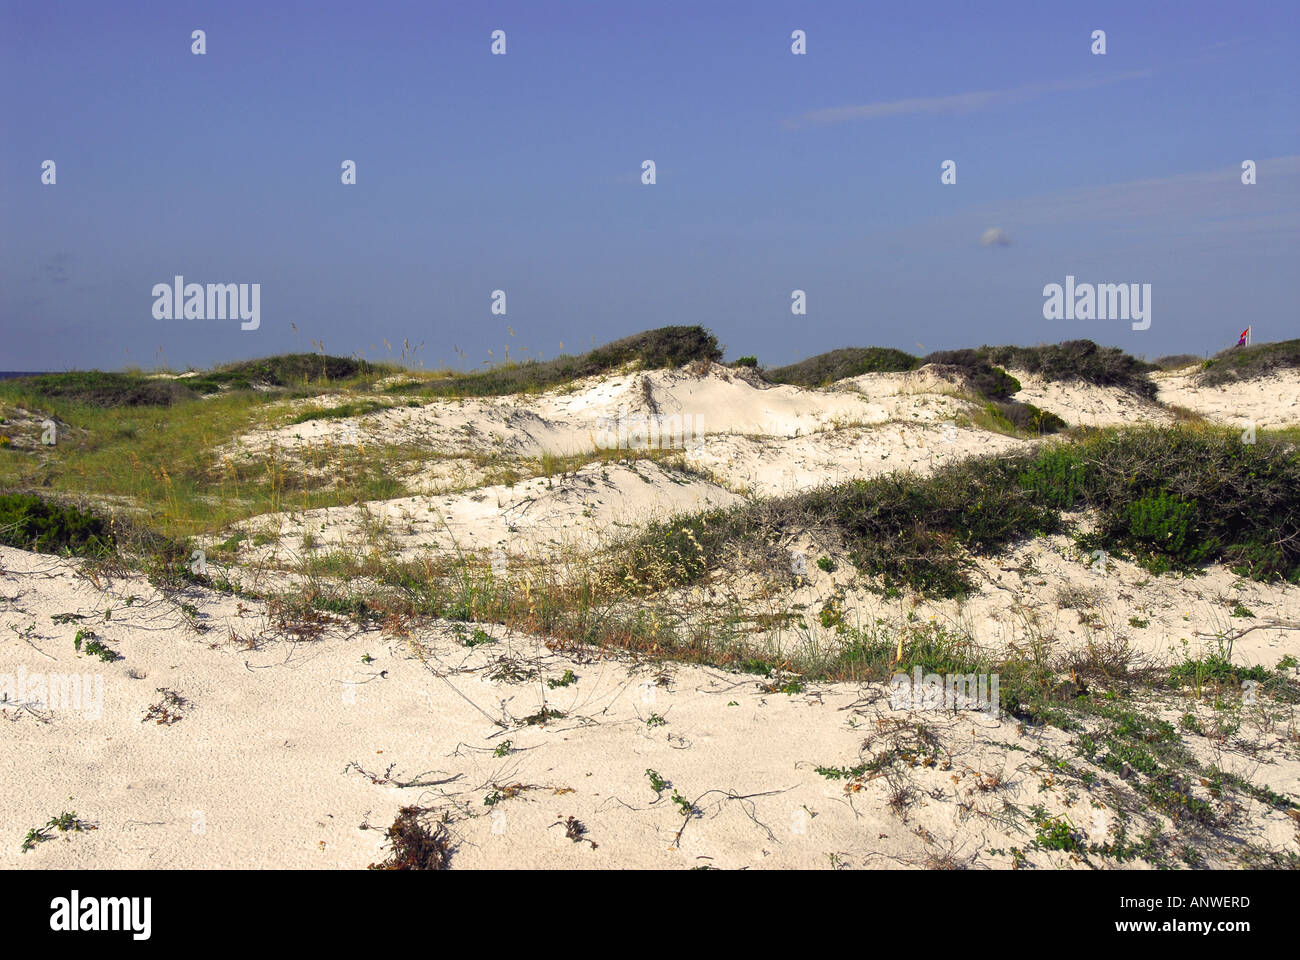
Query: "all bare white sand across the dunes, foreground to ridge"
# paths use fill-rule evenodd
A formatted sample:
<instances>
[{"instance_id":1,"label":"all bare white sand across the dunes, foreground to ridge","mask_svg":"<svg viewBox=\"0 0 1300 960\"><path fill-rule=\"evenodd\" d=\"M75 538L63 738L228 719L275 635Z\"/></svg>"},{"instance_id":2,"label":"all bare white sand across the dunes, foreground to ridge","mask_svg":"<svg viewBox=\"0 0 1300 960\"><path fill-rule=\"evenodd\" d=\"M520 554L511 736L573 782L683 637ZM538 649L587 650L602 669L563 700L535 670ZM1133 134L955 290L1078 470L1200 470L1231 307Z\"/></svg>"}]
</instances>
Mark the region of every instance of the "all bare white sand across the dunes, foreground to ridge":
<instances>
[{"instance_id":1,"label":"all bare white sand across the dunes, foreground to ridge","mask_svg":"<svg viewBox=\"0 0 1300 960\"><path fill-rule=\"evenodd\" d=\"M1071 425L1173 420L1126 390L1015 376L1018 399ZM1186 373L1156 380L1164 403L1216 421L1300 420L1294 372L1214 389ZM980 406L940 368L811 390L712 366L259 431L222 453L412 445L442 457L412 487L464 489L254 518L246 531L273 539L246 540L237 572L247 580L265 570L269 580L304 558L372 549L390 559L499 552L573 566L649 520L1037 442L980 429ZM484 483L497 464L524 470L526 458L586 454L611 436L612 445L644 442L636 431L672 418L689 431L671 437L675 457L629 451L551 477ZM919 601L866 589L852 559L819 536L777 545L803 555L802 581L737 572L711 584L712 594L684 591L677 610L731 604L755 619L798 610L796 622L753 633L757 650L777 656L842 644L820 615L835 604L849 627L933 623L1024 656L1046 643L1080 656L1128 645L1164 665L1225 644L1236 663L1300 657L1300 591L1222 567L1153 576L1112 559L1102 572L1069 539L1046 537L978 561L976 596ZM823 555L832 571L818 567ZM9 836L0 864L10 868L356 869L384 856L382 830L408 804L446 818L456 868L1010 866L1017 857L1075 868L1086 861L1035 848L1026 810L1041 805L1091 843L1179 829L1134 800L1123 770L1089 767L1088 788L1053 774L1053 757L1076 752L1075 734L979 712L894 710L883 684L774 692L779 683L750 674L638 663L494 624L438 622L403 635L400 624L385 633L333 617L290 623L263 601L200 588L164 596L140 576L82 570L0 548L0 730L5 780L22 784L0 797ZM83 619L56 623L60 614ZM78 653L78 630L122 660ZM20 675L88 676L103 699L42 702ZM164 691L182 701L169 705ZM157 710L146 721L155 705L174 722L155 722ZM536 722L543 709L563 717ZM1173 693L1140 709L1171 725L1196 710L1216 719ZM1202 736L1192 749L1257 787L1300 793L1295 718L1287 726L1248 713L1247 725L1249 736ZM668 782L658 795L647 770ZM1121 796L1127 822L1115 813ZM1226 829L1235 840L1300 851L1283 812L1249 795L1234 804ZM62 810L94 829L20 852L29 827ZM1239 865L1228 847L1216 849L1209 865Z\"/></svg>"}]
</instances>

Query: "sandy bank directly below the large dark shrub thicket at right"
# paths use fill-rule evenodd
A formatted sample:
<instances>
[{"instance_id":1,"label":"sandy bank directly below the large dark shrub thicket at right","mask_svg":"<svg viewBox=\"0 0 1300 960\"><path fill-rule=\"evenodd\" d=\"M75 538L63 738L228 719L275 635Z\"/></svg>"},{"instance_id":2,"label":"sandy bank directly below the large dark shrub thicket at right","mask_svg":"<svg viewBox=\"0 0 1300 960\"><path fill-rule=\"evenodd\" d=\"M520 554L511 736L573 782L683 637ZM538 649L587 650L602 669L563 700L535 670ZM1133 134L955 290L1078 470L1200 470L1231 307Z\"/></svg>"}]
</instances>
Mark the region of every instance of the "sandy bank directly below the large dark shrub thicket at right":
<instances>
[{"instance_id":1,"label":"sandy bank directly below the large dark shrub thicket at right","mask_svg":"<svg viewBox=\"0 0 1300 960\"><path fill-rule=\"evenodd\" d=\"M933 622L1000 653L1048 639L1056 653L1118 643L1160 663L1226 649L1247 666L1271 667L1288 654L1300 660L1300 588L1248 580L1223 566L1195 576L1153 576L1130 561L1084 554L1067 536L1049 536L976 558L972 576L980 591L971 597L918 600L872 592L846 555L809 536L796 537L790 550L805 559L797 581L781 571L772 580L738 578L727 591L753 613L807 611L801 624L755 637L785 656L841 643L837 630L818 619L833 602L850 628ZM819 570L819 557L833 558L836 570Z\"/></svg>"}]
</instances>

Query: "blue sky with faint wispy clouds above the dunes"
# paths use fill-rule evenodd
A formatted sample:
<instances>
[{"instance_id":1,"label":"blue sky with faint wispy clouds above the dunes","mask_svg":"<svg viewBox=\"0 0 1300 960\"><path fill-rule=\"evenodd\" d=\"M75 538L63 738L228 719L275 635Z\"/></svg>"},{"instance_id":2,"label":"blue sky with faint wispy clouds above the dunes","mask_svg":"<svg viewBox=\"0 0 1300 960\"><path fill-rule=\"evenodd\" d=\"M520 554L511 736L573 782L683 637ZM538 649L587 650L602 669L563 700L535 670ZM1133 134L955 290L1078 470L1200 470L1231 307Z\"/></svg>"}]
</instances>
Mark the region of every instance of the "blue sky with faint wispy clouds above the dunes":
<instances>
[{"instance_id":1,"label":"blue sky with faint wispy clouds above the dunes","mask_svg":"<svg viewBox=\"0 0 1300 960\"><path fill-rule=\"evenodd\" d=\"M0 0L0 369L1295 337L1297 62L1294 0ZM155 319L176 274L261 284L260 328ZM1150 328L1044 320L1066 274Z\"/></svg>"}]
</instances>

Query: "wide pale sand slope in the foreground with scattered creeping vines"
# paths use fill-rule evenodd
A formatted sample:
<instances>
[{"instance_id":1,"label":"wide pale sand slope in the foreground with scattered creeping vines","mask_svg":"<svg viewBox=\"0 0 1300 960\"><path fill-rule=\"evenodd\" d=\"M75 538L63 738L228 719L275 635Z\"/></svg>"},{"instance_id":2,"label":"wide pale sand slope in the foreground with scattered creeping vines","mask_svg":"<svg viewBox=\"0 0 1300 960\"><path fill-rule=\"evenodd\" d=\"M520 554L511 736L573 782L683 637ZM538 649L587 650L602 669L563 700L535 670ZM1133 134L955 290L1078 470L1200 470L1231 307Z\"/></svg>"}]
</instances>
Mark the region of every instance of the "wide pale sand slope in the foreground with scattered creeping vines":
<instances>
[{"instance_id":1,"label":"wide pale sand slope in the foreground with scattered creeping vines","mask_svg":"<svg viewBox=\"0 0 1300 960\"><path fill-rule=\"evenodd\" d=\"M18 628L3 640L6 669L103 683L98 709L0 708L5 779L23 784L0 799L5 866L360 868L411 803L446 813L455 866L1006 866L989 851L1026 844L1006 804L1043 804L1096 842L1117 835L1104 797L1118 778L1082 793L1045 778L1044 752L1070 741L1057 730L897 712L879 686L768 693L749 675L552 653L499 632L473 649L447 630L343 624L292 641L260 604L169 600L138 578L96 585L75 566L0 549ZM177 601L196 607L196 627ZM77 624L53 626L51 611L84 614L124 660L78 657ZM503 662L537 678L490 679ZM566 670L576 682L547 688ZM160 687L185 699L181 718L142 722ZM564 717L530 725L543 705ZM902 760L916 751L932 760ZM898 760L855 779L816 770L872 757ZM647 770L670 783L658 797ZM1269 780L1294 790L1297 773L1292 757ZM95 829L21 853L26 827L62 810ZM566 835L569 817L585 839ZM1244 836L1295 843L1282 814L1256 804L1245 817Z\"/></svg>"}]
</instances>

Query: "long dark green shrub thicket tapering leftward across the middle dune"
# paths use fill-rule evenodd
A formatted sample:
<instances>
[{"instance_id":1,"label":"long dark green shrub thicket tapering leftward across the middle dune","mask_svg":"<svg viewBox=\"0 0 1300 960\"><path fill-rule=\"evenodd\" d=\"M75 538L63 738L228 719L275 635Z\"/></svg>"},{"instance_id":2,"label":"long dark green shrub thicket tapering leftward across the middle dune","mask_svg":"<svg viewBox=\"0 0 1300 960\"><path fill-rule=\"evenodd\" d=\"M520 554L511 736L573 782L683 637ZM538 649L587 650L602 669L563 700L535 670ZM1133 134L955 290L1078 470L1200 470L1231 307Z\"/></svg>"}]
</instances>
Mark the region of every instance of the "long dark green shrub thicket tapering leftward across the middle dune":
<instances>
[{"instance_id":1,"label":"long dark green shrub thicket tapering leftward across the middle dune","mask_svg":"<svg viewBox=\"0 0 1300 960\"><path fill-rule=\"evenodd\" d=\"M971 557L1065 529L1087 509L1087 545L1153 571L1223 562L1300 583L1300 454L1234 431L1179 427L1093 434L1018 457L984 457L931 476L892 473L653 524L628 544L623 576L642 589L702 580L755 544L829 529L885 587L932 596L974 589Z\"/></svg>"}]
</instances>

